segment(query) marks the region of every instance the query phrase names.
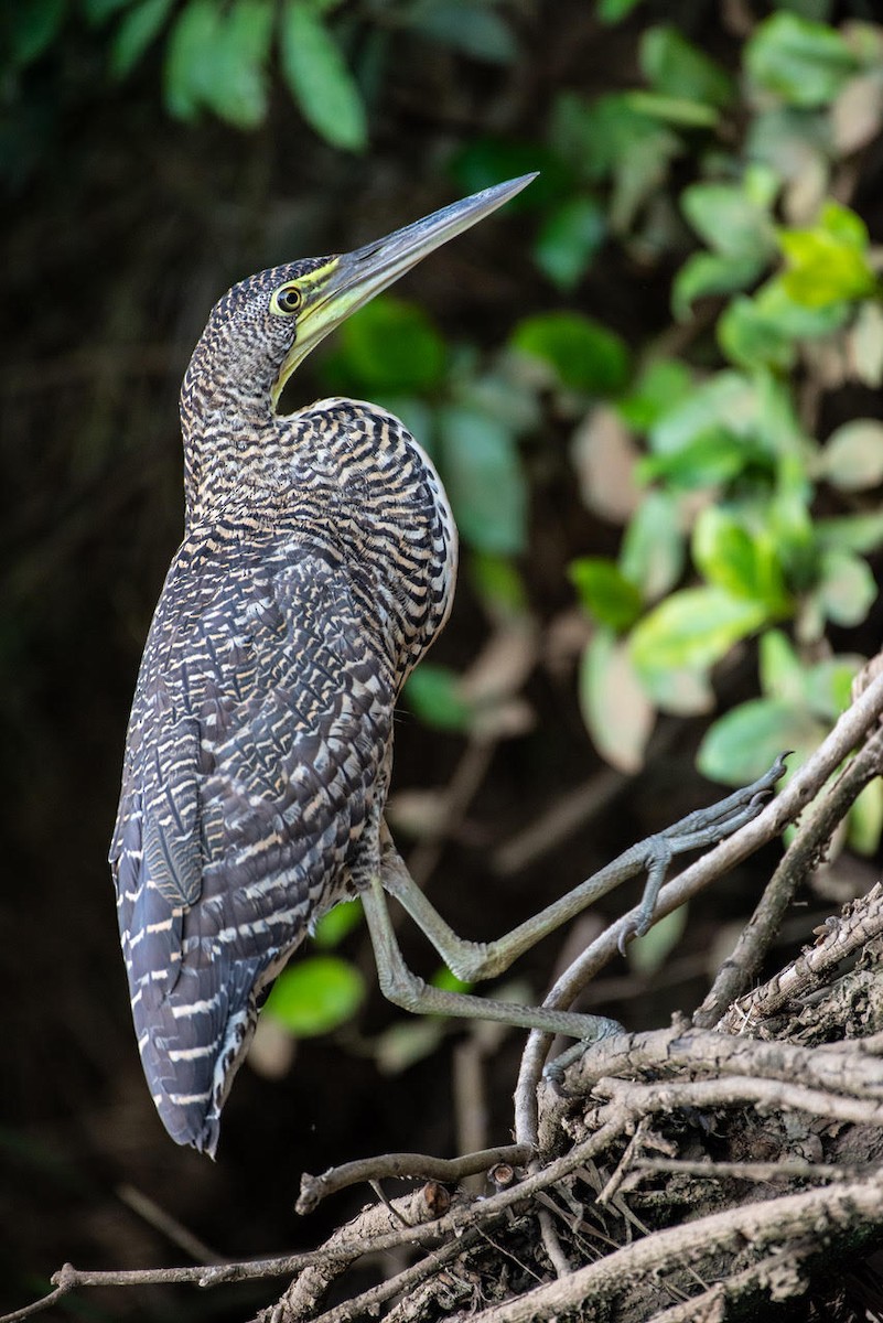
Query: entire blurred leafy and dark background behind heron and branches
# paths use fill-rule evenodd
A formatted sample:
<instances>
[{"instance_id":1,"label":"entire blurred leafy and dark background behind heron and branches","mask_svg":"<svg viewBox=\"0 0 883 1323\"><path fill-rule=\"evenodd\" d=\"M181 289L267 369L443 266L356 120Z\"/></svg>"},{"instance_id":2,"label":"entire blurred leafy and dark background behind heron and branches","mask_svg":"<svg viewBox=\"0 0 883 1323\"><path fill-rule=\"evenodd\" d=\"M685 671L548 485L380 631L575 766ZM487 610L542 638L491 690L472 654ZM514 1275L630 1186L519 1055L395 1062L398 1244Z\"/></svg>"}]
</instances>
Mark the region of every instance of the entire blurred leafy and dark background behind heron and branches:
<instances>
[{"instance_id":1,"label":"entire blurred leafy and dark background behind heron and branches","mask_svg":"<svg viewBox=\"0 0 883 1323\"><path fill-rule=\"evenodd\" d=\"M181 536L177 392L214 300L541 171L284 398L387 405L448 486L459 593L401 704L389 816L448 921L496 937L780 749L797 766L879 647L874 19L861 0L4 7L0 1308L66 1259L313 1245L364 1193L299 1220L301 1171L509 1139L523 1035L383 1003L353 906L280 979L217 1164L147 1094L106 853ZM882 818L878 783L784 942L874 876ZM631 1028L691 1009L772 859L584 1005ZM599 922L496 991L541 998ZM241 1319L272 1298L93 1291L56 1316Z\"/></svg>"}]
</instances>

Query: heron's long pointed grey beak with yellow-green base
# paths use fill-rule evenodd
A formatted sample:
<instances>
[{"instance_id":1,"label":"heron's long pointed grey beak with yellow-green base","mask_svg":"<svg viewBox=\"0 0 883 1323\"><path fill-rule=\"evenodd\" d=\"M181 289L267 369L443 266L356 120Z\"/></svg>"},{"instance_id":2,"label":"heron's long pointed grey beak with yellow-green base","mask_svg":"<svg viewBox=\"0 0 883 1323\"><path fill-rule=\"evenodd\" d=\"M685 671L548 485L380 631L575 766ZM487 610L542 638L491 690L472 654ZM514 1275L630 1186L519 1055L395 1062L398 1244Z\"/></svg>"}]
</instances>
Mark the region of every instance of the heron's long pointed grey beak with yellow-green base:
<instances>
[{"instance_id":1,"label":"heron's long pointed grey beak with yellow-green base","mask_svg":"<svg viewBox=\"0 0 883 1323\"><path fill-rule=\"evenodd\" d=\"M535 177L535 173L521 175L494 184L354 253L329 257L324 266L311 271L304 279L305 302L297 316L297 339L280 368L274 404L295 368L320 340L441 243L496 212Z\"/></svg>"}]
</instances>

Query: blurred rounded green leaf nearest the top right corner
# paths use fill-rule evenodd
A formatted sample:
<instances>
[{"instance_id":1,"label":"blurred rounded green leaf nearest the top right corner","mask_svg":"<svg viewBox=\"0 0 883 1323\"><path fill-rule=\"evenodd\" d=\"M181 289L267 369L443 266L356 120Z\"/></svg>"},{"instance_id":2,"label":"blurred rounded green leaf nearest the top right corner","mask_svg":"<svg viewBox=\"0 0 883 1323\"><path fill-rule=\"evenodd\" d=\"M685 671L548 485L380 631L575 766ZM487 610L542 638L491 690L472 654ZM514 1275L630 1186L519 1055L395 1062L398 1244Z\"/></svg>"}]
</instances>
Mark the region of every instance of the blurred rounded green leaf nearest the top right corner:
<instances>
[{"instance_id":1,"label":"blurred rounded green leaf nearest the top right corner","mask_svg":"<svg viewBox=\"0 0 883 1323\"><path fill-rule=\"evenodd\" d=\"M744 60L756 87L801 107L829 105L857 67L839 33L794 13L757 24Z\"/></svg>"}]
</instances>

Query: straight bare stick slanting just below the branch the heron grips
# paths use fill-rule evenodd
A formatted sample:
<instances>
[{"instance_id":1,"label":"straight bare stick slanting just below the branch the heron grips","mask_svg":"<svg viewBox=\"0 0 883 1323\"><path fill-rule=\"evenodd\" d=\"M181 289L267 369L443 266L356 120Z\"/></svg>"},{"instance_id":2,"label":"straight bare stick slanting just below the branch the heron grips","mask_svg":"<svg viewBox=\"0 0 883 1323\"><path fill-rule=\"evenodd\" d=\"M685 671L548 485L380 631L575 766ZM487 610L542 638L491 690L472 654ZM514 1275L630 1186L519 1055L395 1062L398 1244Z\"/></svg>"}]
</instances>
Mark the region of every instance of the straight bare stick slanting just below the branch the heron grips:
<instances>
[{"instance_id":1,"label":"straight bare stick slanting just below the branch the heron grips","mask_svg":"<svg viewBox=\"0 0 883 1323\"><path fill-rule=\"evenodd\" d=\"M878 732L849 763L830 792L813 806L743 929L732 955L722 964L711 991L697 1011L697 1025L710 1028L716 1024L727 1007L751 984L794 892L818 864L834 831L864 786L880 774L882 755L883 732Z\"/></svg>"}]
</instances>

